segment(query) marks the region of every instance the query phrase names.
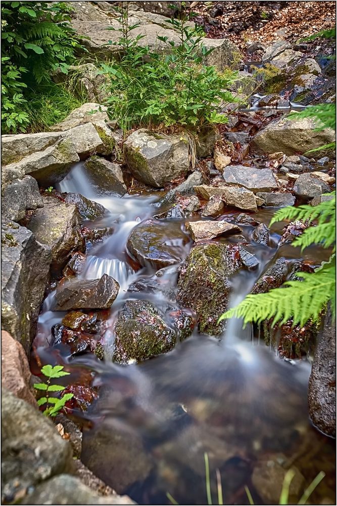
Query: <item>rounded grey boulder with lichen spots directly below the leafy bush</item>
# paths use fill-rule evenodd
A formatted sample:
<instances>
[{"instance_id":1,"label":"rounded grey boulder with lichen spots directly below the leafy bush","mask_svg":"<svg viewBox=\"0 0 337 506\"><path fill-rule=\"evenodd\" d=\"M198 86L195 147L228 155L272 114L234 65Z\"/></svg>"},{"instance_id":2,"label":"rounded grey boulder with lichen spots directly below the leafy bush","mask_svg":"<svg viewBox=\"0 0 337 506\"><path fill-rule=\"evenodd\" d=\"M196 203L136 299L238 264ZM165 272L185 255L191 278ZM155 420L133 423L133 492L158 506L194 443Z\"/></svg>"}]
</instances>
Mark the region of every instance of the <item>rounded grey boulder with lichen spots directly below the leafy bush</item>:
<instances>
[{"instance_id":1,"label":"rounded grey boulder with lichen spots directly below the leafy bush","mask_svg":"<svg viewBox=\"0 0 337 506\"><path fill-rule=\"evenodd\" d=\"M182 136L159 135L141 129L125 141L125 158L133 176L142 183L162 187L188 171L188 142Z\"/></svg>"}]
</instances>

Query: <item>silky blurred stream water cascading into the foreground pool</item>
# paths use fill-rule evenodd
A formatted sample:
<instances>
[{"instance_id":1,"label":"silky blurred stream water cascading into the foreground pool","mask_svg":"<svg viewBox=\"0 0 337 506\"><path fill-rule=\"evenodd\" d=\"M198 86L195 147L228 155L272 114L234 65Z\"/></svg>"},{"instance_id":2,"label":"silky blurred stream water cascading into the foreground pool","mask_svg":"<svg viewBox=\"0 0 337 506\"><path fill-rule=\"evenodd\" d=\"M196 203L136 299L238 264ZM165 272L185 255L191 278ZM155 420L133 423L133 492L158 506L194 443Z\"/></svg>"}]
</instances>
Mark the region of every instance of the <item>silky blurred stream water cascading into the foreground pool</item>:
<instances>
[{"instance_id":1,"label":"silky blurred stream water cascading into the foreground pool","mask_svg":"<svg viewBox=\"0 0 337 506\"><path fill-rule=\"evenodd\" d=\"M281 360L252 326L243 330L242 322L233 319L220 339L195 331L164 355L140 364L113 363L113 326L125 300L144 298L158 307L178 307L155 288L127 291L135 282L148 281L148 286L156 286L151 281L158 281L151 266L139 268L126 250L133 227L158 213L152 206L158 197L107 195L88 179L81 163L74 166L59 189L80 192L108 209L99 225L113 227L114 233L89 249L81 277L94 279L107 273L121 285L104 335L105 361L92 354L71 357L69 351L51 346L51 328L66 314L51 310L55 292L45 299L38 321L34 346L42 364L62 363L72 374L67 379L89 376L91 385L99 387L99 398L87 412L74 413L83 424L81 458L85 465L139 504L169 504L167 492L180 504L205 504L205 452L210 461L214 503L217 469L224 504L248 504L245 486L255 503L262 504L262 491L266 487L273 490L274 483L282 482L282 465L294 465L306 485L324 471L326 476L312 496L316 502L311 503L333 504L334 444L308 419L309 362ZM262 216L260 211L257 219L268 223L272 212L268 209ZM228 212L227 218L231 216ZM184 230L183 220L164 222L168 229L179 223ZM253 228L243 229L250 238ZM233 278L232 305L245 297L278 255L279 235L275 230L275 247L252 243L259 268ZM190 247L191 242L179 245L181 259ZM292 261L294 248L292 252L284 249L282 255ZM160 280L165 286L174 289L177 268L164 269ZM278 470L276 475L268 475L271 468Z\"/></svg>"}]
</instances>

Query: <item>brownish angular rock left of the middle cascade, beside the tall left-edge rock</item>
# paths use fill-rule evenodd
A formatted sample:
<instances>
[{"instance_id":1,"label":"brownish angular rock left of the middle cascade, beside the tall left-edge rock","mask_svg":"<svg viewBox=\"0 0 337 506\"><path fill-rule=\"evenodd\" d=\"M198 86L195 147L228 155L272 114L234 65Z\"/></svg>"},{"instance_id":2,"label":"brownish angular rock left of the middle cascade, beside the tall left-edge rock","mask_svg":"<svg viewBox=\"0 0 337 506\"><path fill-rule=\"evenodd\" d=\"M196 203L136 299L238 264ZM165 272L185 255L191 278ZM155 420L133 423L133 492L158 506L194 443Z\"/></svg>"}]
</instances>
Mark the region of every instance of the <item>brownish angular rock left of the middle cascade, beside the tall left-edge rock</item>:
<instances>
[{"instance_id":1,"label":"brownish angular rock left of the middle cascade, beside the tall left-edge rock","mask_svg":"<svg viewBox=\"0 0 337 506\"><path fill-rule=\"evenodd\" d=\"M44 207L37 209L27 228L36 239L52 249L52 271L60 273L73 251L83 251L79 233L80 216L76 205L52 197L43 197Z\"/></svg>"}]
</instances>

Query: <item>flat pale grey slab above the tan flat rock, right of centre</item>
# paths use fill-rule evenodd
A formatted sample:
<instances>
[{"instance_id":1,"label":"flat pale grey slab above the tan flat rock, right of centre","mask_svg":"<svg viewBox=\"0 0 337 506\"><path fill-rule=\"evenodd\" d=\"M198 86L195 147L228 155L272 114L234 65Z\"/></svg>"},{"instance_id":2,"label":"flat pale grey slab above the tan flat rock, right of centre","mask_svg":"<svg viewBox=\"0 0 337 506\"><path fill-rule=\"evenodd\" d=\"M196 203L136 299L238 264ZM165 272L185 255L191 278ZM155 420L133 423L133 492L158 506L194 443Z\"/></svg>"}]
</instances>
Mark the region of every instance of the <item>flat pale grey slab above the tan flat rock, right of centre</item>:
<instances>
[{"instance_id":1,"label":"flat pale grey slab above the tan flat rock, right of centre","mask_svg":"<svg viewBox=\"0 0 337 506\"><path fill-rule=\"evenodd\" d=\"M229 165L223 171L222 177L226 183L244 186L253 192L271 191L278 188L276 178L270 168Z\"/></svg>"}]
</instances>

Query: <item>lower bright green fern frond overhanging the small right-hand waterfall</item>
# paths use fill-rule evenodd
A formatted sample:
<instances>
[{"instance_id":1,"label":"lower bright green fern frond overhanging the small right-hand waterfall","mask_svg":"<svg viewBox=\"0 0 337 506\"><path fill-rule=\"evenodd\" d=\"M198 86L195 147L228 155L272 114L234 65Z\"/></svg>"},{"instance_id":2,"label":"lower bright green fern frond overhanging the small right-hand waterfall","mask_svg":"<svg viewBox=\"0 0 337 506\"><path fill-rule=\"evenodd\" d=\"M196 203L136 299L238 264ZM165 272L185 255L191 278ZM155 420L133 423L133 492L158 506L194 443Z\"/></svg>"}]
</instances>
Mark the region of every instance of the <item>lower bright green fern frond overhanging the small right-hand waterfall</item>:
<instances>
[{"instance_id":1,"label":"lower bright green fern frond overhanging the small right-hand waterfall","mask_svg":"<svg viewBox=\"0 0 337 506\"><path fill-rule=\"evenodd\" d=\"M330 301L335 311L335 256L322 263L313 273L300 273L302 280L286 281L284 288L273 288L266 293L249 294L236 307L219 318L243 318L248 322L261 323L273 318L272 326L282 325L292 319L293 325L303 326L309 319L317 320L320 312Z\"/></svg>"}]
</instances>

